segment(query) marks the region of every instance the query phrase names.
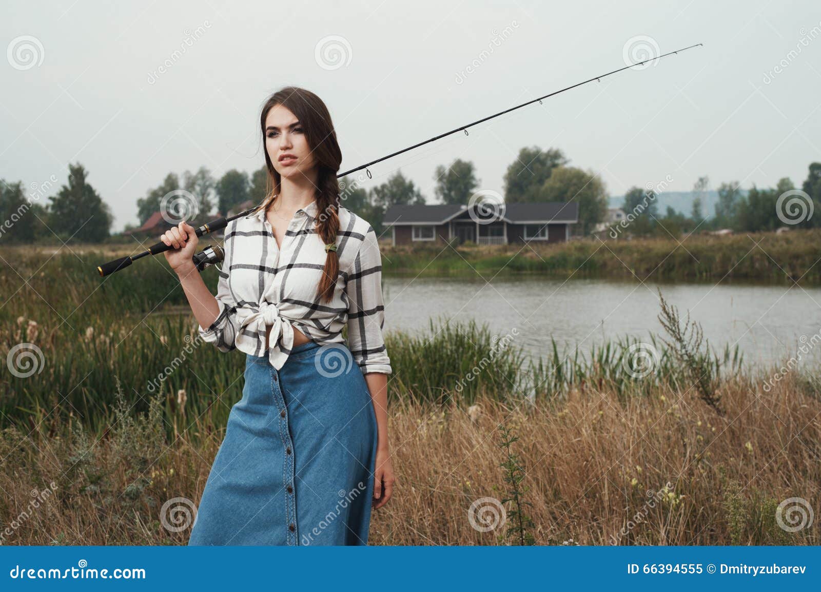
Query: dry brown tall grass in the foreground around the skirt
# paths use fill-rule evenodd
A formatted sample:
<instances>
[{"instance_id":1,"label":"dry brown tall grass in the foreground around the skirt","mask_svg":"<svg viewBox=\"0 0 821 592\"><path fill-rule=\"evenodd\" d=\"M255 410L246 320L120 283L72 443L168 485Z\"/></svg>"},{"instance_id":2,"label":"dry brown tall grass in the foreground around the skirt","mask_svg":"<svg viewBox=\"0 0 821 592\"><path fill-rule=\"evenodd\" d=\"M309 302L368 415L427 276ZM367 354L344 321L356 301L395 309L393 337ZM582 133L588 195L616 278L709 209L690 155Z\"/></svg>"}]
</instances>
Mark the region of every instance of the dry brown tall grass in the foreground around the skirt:
<instances>
[{"instance_id":1,"label":"dry brown tall grass in the foreground around the skirt","mask_svg":"<svg viewBox=\"0 0 821 592\"><path fill-rule=\"evenodd\" d=\"M727 382L723 417L692 389L663 387L626 400L574 389L539 406L392 403L397 490L374 512L369 544L515 544L510 524L479 531L469 517L475 500L507 497L502 422L520 438L511 448L536 544L819 544L817 522L790 532L776 517L789 498L821 508L821 401L803 380L795 371L769 392ZM222 435L192 421L167 442L158 405L145 417L126 412L99 443L79 424L62 435L2 432L4 544L186 543L189 528L163 526L175 526L163 503L199 500ZM475 524L502 505L488 503ZM795 517L781 516L787 526Z\"/></svg>"}]
</instances>

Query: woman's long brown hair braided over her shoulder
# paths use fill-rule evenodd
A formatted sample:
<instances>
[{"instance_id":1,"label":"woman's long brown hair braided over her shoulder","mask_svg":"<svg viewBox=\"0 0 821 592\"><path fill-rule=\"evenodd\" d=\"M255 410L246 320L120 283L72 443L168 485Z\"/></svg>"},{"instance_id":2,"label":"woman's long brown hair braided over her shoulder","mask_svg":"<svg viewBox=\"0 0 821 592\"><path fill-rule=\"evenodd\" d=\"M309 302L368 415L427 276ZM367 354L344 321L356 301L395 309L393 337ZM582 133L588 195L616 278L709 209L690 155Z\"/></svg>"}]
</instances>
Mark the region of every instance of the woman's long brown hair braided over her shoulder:
<instances>
[{"instance_id":1,"label":"woman's long brown hair braided over her shoulder","mask_svg":"<svg viewBox=\"0 0 821 592\"><path fill-rule=\"evenodd\" d=\"M316 166L319 167L316 187L317 219L316 232L323 244L337 242L339 231L339 184L337 171L342 164L342 150L337 143L337 134L333 130L333 122L328 107L321 98L310 90L297 86L287 86L273 93L265 101L262 112L259 114L259 126L262 128L263 152L265 167L268 169L268 194L263 203L255 207L254 212L260 209L267 210L268 206L279 195L282 175L273 168L268 150L265 149L265 119L268 112L275 105L282 105L290 110L300 121L308 141L311 153L314 155ZM328 251L325 258L322 279L319 281L318 295L328 302L333 298L333 289L339 274L339 257L336 251Z\"/></svg>"}]
</instances>

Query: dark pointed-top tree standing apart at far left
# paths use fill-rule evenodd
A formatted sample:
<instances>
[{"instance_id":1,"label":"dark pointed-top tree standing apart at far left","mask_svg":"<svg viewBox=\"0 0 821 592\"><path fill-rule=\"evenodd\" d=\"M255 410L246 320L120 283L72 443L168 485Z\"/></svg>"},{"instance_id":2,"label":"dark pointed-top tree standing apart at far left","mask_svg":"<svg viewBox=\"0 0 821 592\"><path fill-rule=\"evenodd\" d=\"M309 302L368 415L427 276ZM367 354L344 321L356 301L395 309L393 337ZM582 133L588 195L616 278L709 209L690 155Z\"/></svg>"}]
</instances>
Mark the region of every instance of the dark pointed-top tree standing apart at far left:
<instances>
[{"instance_id":1,"label":"dark pointed-top tree standing apart at far left","mask_svg":"<svg viewBox=\"0 0 821 592\"><path fill-rule=\"evenodd\" d=\"M108 237L114 216L86 181L85 168L69 164L68 170L68 184L49 198L49 225L64 240L99 243Z\"/></svg>"}]
</instances>

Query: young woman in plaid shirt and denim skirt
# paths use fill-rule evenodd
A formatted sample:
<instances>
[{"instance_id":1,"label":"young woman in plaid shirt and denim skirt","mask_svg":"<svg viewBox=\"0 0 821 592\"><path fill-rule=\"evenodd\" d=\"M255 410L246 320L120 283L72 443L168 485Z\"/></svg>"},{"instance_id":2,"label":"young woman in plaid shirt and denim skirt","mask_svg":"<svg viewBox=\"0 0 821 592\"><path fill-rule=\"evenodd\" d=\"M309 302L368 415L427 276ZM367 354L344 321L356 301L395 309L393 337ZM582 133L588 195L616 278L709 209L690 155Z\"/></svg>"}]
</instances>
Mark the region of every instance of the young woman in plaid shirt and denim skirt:
<instances>
[{"instance_id":1,"label":"young woman in plaid shirt and denim skirt","mask_svg":"<svg viewBox=\"0 0 821 592\"><path fill-rule=\"evenodd\" d=\"M338 203L342 153L319 97L282 89L260 125L273 189L228 223L216 298L191 261L195 229L161 237L200 336L246 357L189 544L367 544L395 482L377 237Z\"/></svg>"}]
</instances>

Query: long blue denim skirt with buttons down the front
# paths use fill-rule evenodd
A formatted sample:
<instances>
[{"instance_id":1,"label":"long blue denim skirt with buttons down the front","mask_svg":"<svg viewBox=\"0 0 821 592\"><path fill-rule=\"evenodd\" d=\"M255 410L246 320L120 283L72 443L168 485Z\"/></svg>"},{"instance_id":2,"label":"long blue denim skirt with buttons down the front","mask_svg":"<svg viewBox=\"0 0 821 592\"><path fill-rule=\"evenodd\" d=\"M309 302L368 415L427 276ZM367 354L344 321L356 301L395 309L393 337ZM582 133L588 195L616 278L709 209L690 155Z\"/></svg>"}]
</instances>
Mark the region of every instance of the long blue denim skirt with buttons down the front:
<instances>
[{"instance_id":1,"label":"long blue denim skirt with buttons down the front","mask_svg":"<svg viewBox=\"0 0 821 592\"><path fill-rule=\"evenodd\" d=\"M345 344L246 354L190 545L367 544L377 424Z\"/></svg>"}]
</instances>

